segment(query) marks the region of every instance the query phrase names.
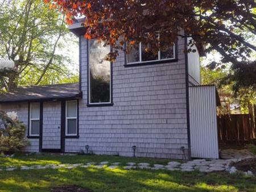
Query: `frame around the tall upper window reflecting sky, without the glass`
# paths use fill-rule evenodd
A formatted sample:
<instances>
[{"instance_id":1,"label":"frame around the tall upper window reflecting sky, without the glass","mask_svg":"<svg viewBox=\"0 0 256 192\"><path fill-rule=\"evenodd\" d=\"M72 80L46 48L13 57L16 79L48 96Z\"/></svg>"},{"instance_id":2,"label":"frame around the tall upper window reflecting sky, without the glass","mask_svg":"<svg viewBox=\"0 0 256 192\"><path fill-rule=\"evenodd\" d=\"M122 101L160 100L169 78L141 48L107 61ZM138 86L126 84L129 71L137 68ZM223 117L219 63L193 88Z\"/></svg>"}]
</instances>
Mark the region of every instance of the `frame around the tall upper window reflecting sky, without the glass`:
<instances>
[{"instance_id":1,"label":"frame around the tall upper window reflecting sky, without the glass","mask_svg":"<svg viewBox=\"0 0 256 192\"><path fill-rule=\"evenodd\" d=\"M110 50L111 51L111 47ZM109 61L110 62L110 61ZM112 63L110 62L110 80L109 80L109 102L98 102L98 103L92 103L90 102L90 40L88 40L88 81L89 81L89 87L88 87L88 95L89 95L89 105L109 105L112 104Z\"/></svg>"}]
</instances>

